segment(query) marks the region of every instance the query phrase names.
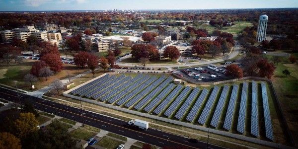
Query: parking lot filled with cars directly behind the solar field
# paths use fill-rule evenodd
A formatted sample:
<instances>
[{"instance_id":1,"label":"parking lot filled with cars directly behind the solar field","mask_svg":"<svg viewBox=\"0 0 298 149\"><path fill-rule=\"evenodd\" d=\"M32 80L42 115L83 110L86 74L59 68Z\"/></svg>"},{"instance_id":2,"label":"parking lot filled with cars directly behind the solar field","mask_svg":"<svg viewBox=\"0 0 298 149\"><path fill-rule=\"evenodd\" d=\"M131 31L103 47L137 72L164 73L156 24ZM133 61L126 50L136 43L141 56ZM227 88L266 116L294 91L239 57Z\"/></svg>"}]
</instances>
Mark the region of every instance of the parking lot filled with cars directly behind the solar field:
<instances>
[{"instance_id":1,"label":"parking lot filled with cars directly behind the solar field","mask_svg":"<svg viewBox=\"0 0 298 149\"><path fill-rule=\"evenodd\" d=\"M180 76L197 82L219 81L231 78L225 75L224 67L215 67L211 65L196 68L179 69L176 73Z\"/></svg>"}]
</instances>

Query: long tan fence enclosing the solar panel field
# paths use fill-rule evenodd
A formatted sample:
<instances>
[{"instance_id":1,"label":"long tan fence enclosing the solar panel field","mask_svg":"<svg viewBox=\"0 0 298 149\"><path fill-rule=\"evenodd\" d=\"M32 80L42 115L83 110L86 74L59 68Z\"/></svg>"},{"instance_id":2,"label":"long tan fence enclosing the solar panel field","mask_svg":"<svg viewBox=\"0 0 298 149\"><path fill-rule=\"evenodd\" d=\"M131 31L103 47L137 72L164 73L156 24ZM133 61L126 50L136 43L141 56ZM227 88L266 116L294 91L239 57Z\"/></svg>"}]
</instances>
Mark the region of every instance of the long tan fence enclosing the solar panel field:
<instances>
[{"instance_id":1,"label":"long tan fence enclosing the solar panel field","mask_svg":"<svg viewBox=\"0 0 298 149\"><path fill-rule=\"evenodd\" d=\"M113 73L117 73L117 72L113 72ZM85 102L89 102L89 103L93 103L93 104L96 104L96 105L99 105L99 106L103 106L103 107L106 107L106 108L111 108L111 109L114 109L114 110L119 110L119 111L122 111L122 112L139 115L139 116L142 116L142 117L153 118L155 120L159 120L159 121L163 121L163 122L167 122L167 123L172 123L172 124L176 124L176 125L185 126L185 127L189 127L189 128L193 128L193 129L197 129L197 130L208 132L208 129L209 128L206 128L206 127L203 127L203 126L198 126L198 125L194 125L194 124L190 124L190 123L185 123L185 122L180 122L180 121L176 121L176 120L171 120L171 119L168 119L168 118L163 118L163 117L159 117L159 116L155 116L155 115L150 115L148 113L142 113L142 112L138 112L138 111L133 111L133 110L129 110L129 109L126 109L126 108L121 108L121 107L118 107L118 106L114 106L114 105L111 105L111 104L97 102L97 101L94 101L94 100L90 100L90 99L86 99L86 98L82 98L82 97L78 97L78 96L74 96L74 95L69 94L74 89L76 89L76 88L78 88L78 87L80 87L80 86L82 86L84 84L87 84L87 83L89 83L89 82L91 82L91 81L93 81L93 80L95 80L95 79L97 79L99 77L104 76L104 75L106 75L106 74L102 74L102 75L97 76L97 77L95 77L95 78L93 78L93 79L91 79L89 81L86 81L86 82L84 82L84 83L82 83L82 84L80 84L78 86L75 86L74 88L65 91L63 93L63 95L64 96L67 96L67 97L70 97L70 98L77 99L77 100L82 100L82 101L85 101ZM269 80L267 78L255 77L255 76L247 76L247 77L243 77L243 78L229 79L229 80L224 80L224 81L219 81L219 82L213 82L213 83L214 84L220 84L220 83L232 82L232 81L249 79L249 78L261 79L261 80L269 81L271 83L271 86L272 86L271 80ZM273 88L273 86L272 86L272 88ZM273 91L274 91L274 94L275 94L274 88L273 88ZM276 97L276 94L275 94L275 97ZM280 103L277 100L277 97L275 99L276 99L276 101L277 101L277 103L279 105L279 108L281 110L281 106L280 106ZM282 110L281 110L281 112L283 113ZM284 121L284 123L285 123L285 125L287 127L286 130L287 130L288 135L291 138L292 144L294 144L294 140L292 138L292 135L291 135L291 133L289 131L288 125L287 125L286 120L285 120L284 117L283 117L283 121ZM272 142L268 142L268 141L264 141L264 140L260 140L260 139L256 139L256 138L250 138L250 137L246 137L246 136L243 136L243 135L237 135L237 134L232 134L232 133L229 133L229 132L219 131L219 130L216 130L216 129L209 129L209 132L210 133L217 134L217 135L223 135L223 136L226 136L226 137L231 137L231 138L236 138L236 139L240 139L240 140L244 140L244 141L256 143L256 144L266 145L266 146L273 147L273 148L295 149L293 147L289 147L289 146L285 146L285 145L281 145L281 144L277 144L277 143L272 143Z\"/></svg>"}]
</instances>

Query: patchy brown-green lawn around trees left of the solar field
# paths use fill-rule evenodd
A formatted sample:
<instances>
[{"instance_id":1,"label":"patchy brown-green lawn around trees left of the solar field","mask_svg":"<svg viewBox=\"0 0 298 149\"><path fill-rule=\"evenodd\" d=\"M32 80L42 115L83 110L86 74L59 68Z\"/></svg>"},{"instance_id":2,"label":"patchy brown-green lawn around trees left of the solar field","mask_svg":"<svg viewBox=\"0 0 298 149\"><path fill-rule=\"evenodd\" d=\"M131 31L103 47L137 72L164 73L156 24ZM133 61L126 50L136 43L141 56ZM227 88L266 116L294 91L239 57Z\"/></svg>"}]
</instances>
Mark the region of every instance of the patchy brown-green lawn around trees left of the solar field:
<instances>
[{"instance_id":1,"label":"patchy brown-green lawn around trees left of the solar field","mask_svg":"<svg viewBox=\"0 0 298 149\"><path fill-rule=\"evenodd\" d=\"M26 74L30 73L32 64L36 62L37 60L24 60L23 63L20 64L20 66L11 63L10 66L6 66L6 64L0 63L0 83L13 86L17 88L21 88L24 90L31 90L30 84L25 83L24 76ZM70 77L77 75L79 73L83 73L87 71L88 69L78 69L75 65L71 64L63 64L64 69L53 76L48 77L48 80L45 80L44 77L40 77L37 82L34 82L35 89L40 89L44 86L47 86L49 83L51 83L54 79L59 78L67 78L68 73ZM16 80L16 84L14 83L14 80Z\"/></svg>"}]
</instances>

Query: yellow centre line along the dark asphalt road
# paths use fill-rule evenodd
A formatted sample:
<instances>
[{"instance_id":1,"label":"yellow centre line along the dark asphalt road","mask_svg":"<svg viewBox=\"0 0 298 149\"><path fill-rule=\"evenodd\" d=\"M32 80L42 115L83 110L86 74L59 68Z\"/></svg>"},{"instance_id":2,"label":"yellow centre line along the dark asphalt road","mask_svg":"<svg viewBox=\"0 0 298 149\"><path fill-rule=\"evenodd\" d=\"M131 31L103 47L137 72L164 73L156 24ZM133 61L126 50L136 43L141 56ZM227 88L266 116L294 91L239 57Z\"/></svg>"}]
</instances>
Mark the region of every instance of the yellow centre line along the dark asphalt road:
<instances>
[{"instance_id":1,"label":"yellow centre line along the dark asphalt road","mask_svg":"<svg viewBox=\"0 0 298 149\"><path fill-rule=\"evenodd\" d=\"M41 105L45 105L45 106L48 106L48 107L52 107L52 106L49 106L49 105L46 105L46 104L43 104L43 103L39 103L39 102L36 102L38 104L41 104ZM61 105L64 105L64 104L61 104ZM66 106L66 105L65 105ZM60 108L57 108L57 107L52 107L54 109L58 109L58 110L61 110L61 111L65 111L65 112L68 112L68 113L72 113L72 114L75 114L75 115L78 115L78 116L81 116L80 114L76 114L74 112L70 112L70 111L67 111L67 110L63 110L63 109L60 109ZM88 118L88 119L92 119L92 120L95 120L95 121L98 121L98 122L102 122L102 123L106 123L106 124L109 124L109 125L112 125L112 126L116 126L116 127L120 127L122 129L126 129L126 130L129 130L129 131L132 131L132 132L136 132L136 133L139 133L139 134L143 134L143 135L147 135L147 136L151 136L151 137L154 137L154 138L158 138L160 140L164 140L164 141L167 141L167 139L164 139L164 138L160 138L160 137L157 137L157 136L153 136L153 135L150 135L150 134L146 134L146 133L143 133L143 132L139 132L139 131L135 131L135 130L132 130L132 129L129 129L129 128L125 128L125 127L122 127L122 126L118 126L116 124L111 124L111 123L108 123L108 122L105 122L105 121L101 121L101 120L97 120L97 119L94 119L94 118L91 118L91 117L87 117L87 116L83 116L85 118ZM102 125L104 127L106 127L105 125ZM175 141L171 141L171 140L168 140L169 142L172 142L172 143L175 143L175 144L179 144L179 145L183 145L183 146L186 146L186 147L189 147L189 148L193 148L193 149L199 149L199 148L195 148L195 147L192 147L192 146L188 146L188 145L185 145L185 144L182 144L182 143L178 143L178 142L175 142Z\"/></svg>"}]
</instances>

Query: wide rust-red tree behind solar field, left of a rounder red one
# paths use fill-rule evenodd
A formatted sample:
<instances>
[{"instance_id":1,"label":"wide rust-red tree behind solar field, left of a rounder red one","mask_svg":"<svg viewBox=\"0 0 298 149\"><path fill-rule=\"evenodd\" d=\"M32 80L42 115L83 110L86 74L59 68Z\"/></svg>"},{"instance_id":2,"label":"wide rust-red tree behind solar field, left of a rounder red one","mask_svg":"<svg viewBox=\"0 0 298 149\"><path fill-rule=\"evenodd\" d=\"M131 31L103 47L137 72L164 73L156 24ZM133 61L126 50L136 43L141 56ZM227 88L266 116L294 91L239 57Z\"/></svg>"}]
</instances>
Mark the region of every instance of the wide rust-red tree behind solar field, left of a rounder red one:
<instances>
[{"instance_id":1,"label":"wide rust-red tree behind solar field, left of a rounder red one","mask_svg":"<svg viewBox=\"0 0 298 149\"><path fill-rule=\"evenodd\" d=\"M135 44L131 49L132 57L137 59L144 57L152 60L158 57L158 50L150 44Z\"/></svg>"}]
</instances>

